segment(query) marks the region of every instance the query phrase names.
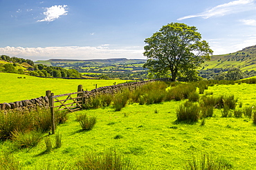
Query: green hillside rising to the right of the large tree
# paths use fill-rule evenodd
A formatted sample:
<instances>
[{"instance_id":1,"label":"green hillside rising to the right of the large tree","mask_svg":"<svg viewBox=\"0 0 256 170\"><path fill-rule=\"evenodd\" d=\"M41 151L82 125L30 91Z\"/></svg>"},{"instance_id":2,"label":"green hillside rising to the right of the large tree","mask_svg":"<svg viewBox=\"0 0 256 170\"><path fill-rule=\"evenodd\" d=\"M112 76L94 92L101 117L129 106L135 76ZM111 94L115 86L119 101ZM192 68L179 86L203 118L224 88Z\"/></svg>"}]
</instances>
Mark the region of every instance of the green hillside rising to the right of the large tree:
<instances>
[{"instance_id":1,"label":"green hillside rising to the right of the large tree","mask_svg":"<svg viewBox=\"0 0 256 170\"><path fill-rule=\"evenodd\" d=\"M230 67L239 67L242 71L256 70L256 45L230 54L214 55L202 66L203 70L219 68L227 70Z\"/></svg>"}]
</instances>

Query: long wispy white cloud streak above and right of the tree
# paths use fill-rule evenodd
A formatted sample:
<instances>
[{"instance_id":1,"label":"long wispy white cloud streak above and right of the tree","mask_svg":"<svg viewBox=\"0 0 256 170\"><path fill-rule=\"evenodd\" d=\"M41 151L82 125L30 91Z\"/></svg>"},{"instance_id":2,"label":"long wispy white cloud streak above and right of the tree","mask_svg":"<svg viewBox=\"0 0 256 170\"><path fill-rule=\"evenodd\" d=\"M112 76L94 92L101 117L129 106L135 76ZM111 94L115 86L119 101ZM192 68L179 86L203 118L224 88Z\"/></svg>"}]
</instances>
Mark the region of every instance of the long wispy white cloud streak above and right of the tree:
<instances>
[{"instance_id":1,"label":"long wispy white cloud streak above and right of the tree","mask_svg":"<svg viewBox=\"0 0 256 170\"><path fill-rule=\"evenodd\" d=\"M224 16L227 14L244 12L244 11L248 11L248 10L255 10L253 1L254 0L230 1L229 3L224 3L219 6L215 6L214 8L211 8L210 10L206 10L205 12L201 12L199 14L188 15L185 17L181 17L177 20L180 21L183 19L190 19L190 18L194 18L194 17L202 17L203 19L208 19L210 17L221 17L221 16Z\"/></svg>"}]
</instances>

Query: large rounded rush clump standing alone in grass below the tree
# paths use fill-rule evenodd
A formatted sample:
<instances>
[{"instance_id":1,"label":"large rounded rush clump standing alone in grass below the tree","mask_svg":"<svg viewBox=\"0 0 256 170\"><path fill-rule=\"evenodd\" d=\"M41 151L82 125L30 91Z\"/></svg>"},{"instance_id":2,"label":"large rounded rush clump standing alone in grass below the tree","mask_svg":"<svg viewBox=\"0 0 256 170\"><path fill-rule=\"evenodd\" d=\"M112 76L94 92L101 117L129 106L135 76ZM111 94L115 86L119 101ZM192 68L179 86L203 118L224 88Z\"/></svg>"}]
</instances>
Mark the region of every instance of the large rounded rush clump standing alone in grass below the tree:
<instances>
[{"instance_id":1,"label":"large rounded rush clump standing alone in grass below the tree","mask_svg":"<svg viewBox=\"0 0 256 170\"><path fill-rule=\"evenodd\" d=\"M194 123L199 120L200 107L195 103L184 103L176 110L177 120Z\"/></svg>"}]
</instances>

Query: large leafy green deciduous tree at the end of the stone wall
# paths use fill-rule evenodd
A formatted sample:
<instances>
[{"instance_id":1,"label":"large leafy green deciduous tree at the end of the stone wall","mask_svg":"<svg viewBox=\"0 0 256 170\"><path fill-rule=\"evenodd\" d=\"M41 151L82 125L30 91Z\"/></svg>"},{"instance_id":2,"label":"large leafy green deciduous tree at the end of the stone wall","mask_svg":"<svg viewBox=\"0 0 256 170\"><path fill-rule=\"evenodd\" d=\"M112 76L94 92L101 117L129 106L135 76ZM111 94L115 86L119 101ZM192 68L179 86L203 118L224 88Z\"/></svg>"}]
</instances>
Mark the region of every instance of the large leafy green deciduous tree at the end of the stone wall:
<instances>
[{"instance_id":1,"label":"large leafy green deciduous tree at the end of the stone wall","mask_svg":"<svg viewBox=\"0 0 256 170\"><path fill-rule=\"evenodd\" d=\"M145 39L143 53L147 56L144 67L149 69L149 75L163 78L171 74L176 80L179 72L195 70L206 60L210 60L212 50L206 41L201 40L201 34L196 27L184 23L169 23L159 32Z\"/></svg>"}]
</instances>

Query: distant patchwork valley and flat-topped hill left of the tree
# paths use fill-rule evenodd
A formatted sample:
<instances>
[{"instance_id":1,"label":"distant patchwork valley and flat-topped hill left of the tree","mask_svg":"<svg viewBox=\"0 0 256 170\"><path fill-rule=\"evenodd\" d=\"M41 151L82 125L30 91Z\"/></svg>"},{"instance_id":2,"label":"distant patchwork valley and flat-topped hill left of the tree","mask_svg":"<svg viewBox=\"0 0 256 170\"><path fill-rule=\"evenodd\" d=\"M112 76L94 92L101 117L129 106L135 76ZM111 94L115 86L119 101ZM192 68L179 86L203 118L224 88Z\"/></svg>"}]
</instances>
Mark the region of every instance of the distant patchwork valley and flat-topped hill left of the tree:
<instances>
[{"instance_id":1,"label":"distant patchwork valley and flat-topped hill left of the tree","mask_svg":"<svg viewBox=\"0 0 256 170\"><path fill-rule=\"evenodd\" d=\"M36 61L36 64L75 69L84 78L120 78L129 80L144 80L147 70L143 68L146 59L94 59L65 60L51 59Z\"/></svg>"}]
</instances>

